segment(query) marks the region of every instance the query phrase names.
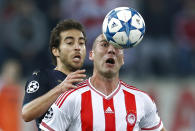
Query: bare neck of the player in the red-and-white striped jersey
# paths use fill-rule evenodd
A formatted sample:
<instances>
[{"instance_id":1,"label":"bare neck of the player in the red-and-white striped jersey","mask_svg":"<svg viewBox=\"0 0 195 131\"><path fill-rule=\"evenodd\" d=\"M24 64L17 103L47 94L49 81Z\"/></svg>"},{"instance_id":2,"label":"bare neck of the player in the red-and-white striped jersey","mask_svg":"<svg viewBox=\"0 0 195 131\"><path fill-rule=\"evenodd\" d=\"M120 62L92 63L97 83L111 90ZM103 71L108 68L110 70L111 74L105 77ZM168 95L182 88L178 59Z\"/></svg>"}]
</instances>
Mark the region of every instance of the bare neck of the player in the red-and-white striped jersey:
<instances>
[{"instance_id":1,"label":"bare neck of the player in the red-and-white striped jersey","mask_svg":"<svg viewBox=\"0 0 195 131\"><path fill-rule=\"evenodd\" d=\"M118 77L105 78L96 74L91 77L90 82L96 90L108 96L117 88L119 78Z\"/></svg>"}]
</instances>

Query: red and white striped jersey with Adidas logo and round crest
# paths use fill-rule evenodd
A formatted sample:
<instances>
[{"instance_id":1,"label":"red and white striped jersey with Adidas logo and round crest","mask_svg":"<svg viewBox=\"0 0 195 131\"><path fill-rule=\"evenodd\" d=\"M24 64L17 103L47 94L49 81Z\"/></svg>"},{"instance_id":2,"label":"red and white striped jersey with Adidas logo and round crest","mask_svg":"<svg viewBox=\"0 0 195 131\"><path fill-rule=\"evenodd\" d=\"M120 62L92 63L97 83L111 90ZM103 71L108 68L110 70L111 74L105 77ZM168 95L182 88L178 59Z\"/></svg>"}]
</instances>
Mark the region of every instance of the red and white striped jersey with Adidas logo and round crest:
<instances>
[{"instance_id":1,"label":"red and white striped jersey with Adidas logo and round crest","mask_svg":"<svg viewBox=\"0 0 195 131\"><path fill-rule=\"evenodd\" d=\"M40 128L46 131L160 131L155 103L143 91L119 81L108 96L90 78L59 96Z\"/></svg>"}]
</instances>

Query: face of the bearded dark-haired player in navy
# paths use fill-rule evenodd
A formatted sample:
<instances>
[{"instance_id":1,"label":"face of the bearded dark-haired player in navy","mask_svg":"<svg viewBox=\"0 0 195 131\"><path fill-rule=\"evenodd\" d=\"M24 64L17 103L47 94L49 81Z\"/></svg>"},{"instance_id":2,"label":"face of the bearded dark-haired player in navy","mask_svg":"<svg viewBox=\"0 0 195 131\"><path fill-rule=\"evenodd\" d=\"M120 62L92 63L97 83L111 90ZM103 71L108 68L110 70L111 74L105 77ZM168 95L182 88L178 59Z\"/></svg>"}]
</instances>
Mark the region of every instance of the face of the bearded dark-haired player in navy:
<instances>
[{"instance_id":1,"label":"face of the bearded dark-haired player in navy","mask_svg":"<svg viewBox=\"0 0 195 131\"><path fill-rule=\"evenodd\" d=\"M60 33L59 61L69 70L80 69L86 56L85 38L76 29Z\"/></svg>"}]
</instances>

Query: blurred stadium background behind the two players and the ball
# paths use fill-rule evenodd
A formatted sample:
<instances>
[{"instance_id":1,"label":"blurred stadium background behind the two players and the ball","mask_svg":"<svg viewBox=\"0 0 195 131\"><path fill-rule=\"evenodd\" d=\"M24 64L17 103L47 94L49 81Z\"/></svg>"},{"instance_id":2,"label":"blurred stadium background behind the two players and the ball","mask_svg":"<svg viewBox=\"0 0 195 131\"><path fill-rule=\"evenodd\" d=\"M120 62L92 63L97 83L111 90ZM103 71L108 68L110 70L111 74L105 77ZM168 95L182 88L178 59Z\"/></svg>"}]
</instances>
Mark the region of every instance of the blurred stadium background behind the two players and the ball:
<instances>
[{"instance_id":1,"label":"blurred stadium background behind the two players and the ball","mask_svg":"<svg viewBox=\"0 0 195 131\"><path fill-rule=\"evenodd\" d=\"M111 9L129 6L146 23L146 35L125 50L124 81L148 92L169 131L195 131L194 0L0 0L0 131L36 131L21 119L24 85L33 70L51 65L48 42L60 20L87 30L87 50ZM84 68L92 72L86 57Z\"/></svg>"}]
</instances>

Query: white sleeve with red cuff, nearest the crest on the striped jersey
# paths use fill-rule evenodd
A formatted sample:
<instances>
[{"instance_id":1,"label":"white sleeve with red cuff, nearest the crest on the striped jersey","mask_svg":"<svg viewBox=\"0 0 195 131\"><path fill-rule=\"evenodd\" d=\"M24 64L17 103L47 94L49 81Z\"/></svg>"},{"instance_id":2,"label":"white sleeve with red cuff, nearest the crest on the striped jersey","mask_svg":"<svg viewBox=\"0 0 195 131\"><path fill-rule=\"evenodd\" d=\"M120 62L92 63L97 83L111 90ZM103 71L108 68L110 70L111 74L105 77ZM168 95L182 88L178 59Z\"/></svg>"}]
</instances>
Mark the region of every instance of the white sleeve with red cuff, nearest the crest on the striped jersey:
<instances>
[{"instance_id":1,"label":"white sleeve with red cuff, nearest the crest on the striped jersey","mask_svg":"<svg viewBox=\"0 0 195 131\"><path fill-rule=\"evenodd\" d=\"M160 131L163 128L163 123L158 115L156 104L147 96L145 99L144 112L145 115L140 121L142 131Z\"/></svg>"}]
</instances>

